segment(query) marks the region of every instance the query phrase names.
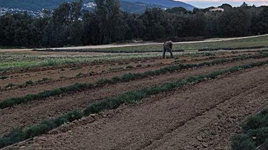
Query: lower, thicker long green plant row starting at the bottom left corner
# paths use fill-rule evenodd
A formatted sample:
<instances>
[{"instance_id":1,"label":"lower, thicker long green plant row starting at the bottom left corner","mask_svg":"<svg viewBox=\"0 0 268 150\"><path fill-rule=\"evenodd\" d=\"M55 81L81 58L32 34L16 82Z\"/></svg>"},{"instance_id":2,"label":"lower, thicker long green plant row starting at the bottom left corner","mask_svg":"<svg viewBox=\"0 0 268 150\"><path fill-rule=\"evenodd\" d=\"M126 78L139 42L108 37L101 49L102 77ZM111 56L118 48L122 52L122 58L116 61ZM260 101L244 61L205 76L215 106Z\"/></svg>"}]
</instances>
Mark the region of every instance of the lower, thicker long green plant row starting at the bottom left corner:
<instances>
[{"instance_id":1,"label":"lower, thicker long green plant row starting at the bottom left corner","mask_svg":"<svg viewBox=\"0 0 268 150\"><path fill-rule=\"evenodd\" d=\"M133 90L133 91L118 95L116 97L104 98L101 101L92 103L83 111L74 110L64 115L61 115L58 118L45 120L38 125L34 125L34 126L27 128L26 130L21 130L21 129L13 130L10 133L0 138L0 148L7 146L7 145L14 144L16 142L26 140L28 138L32 138L34 136L44 134L50 131L51 129L56 128L66 122L72 122L76 119L86 117L93 113L101 112L105 109L118 108L123 103L138 104L141 102L143 98L146 98L150 95L159 94L161 92L169 92L171 90L174 90L175 88L183 87L184 85L187 85L189 83L196 84L205 80L217 78L217 76L222 75L222 74L237 72L237 71L253 68L255 66L260 66L263 64L267 64L267 63L268 63L268 60L265 62L254 62L254 63L250 63L247 65L235 66L226 70L218 70L213 73L206 74L206 75L197 75L194 77L179 79L176 82L169 82L163 85L156 85L154 87L146 87L140 90Z\"/></svg>"}]
</instances>

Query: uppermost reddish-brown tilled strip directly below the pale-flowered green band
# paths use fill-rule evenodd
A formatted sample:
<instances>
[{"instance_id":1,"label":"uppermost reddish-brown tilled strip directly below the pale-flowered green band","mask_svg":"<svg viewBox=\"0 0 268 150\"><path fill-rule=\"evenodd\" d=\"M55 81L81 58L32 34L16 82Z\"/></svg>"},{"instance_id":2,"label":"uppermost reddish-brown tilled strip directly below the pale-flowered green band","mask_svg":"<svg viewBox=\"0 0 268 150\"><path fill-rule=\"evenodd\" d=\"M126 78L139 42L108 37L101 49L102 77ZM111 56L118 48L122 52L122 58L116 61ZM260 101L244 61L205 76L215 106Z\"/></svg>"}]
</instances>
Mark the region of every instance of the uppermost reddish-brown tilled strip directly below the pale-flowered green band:
<instances>
[{"instance_id":1,"label":"uppermost reddish-brown tilled strip directly below the pale-flowered green band","mask_svg":"<svg viewBox=\"0 0 268 150\"><path fill-rule=\"evenodd\" d=\"M71 68L66 68L66 66L58 67L58 69L42 69L41 71L28 71L23 73L14 73L12 75L9 75L9 78L5 80L0 80L0 85L7 85L9 83L15 83L16 85L23 84L26 81L32 80L37 81L41 80L42 78L49 78L53 80L68 80L66 78L74 78L77 74L89 74L90 72L93 72L93 74L101 74L102 72L109 72L110 69L116 69L116 68L126 68L129 65L132 65L135 67L139 63L142 63L143 66L146 65L154 65L157 63L164 64L171 64L174 60L173 59L158 59L158 58L152 58L149 60L142 60L142 61L125 61L122 62L122 64L118 63L103 63L103 64L77 64L73 65ZM42 71L44 70L44 71Z\"/></svg>"}]
</instances>

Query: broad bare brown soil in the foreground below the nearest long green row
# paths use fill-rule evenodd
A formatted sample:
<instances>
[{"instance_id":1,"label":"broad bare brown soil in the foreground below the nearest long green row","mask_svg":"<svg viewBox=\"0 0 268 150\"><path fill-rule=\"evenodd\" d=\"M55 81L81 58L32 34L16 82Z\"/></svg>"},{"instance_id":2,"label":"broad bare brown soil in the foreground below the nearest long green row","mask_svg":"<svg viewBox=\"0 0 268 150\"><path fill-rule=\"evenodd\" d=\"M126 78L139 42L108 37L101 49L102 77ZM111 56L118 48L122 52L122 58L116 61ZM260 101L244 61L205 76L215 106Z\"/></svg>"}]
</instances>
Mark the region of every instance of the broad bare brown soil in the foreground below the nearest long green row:
<instances>
[{"instance_id":1,"label":"broad bare brown soil in the foreground below the nearest long green row","mask_svg":"<svg viewBox=\"0 0 268 150\"><path fill-rule=\"evenodd\" d=\"M267 105L267 72L265 65L152 95L9 149L229 149L238 125Z\"/></svg>"}]
</instances>

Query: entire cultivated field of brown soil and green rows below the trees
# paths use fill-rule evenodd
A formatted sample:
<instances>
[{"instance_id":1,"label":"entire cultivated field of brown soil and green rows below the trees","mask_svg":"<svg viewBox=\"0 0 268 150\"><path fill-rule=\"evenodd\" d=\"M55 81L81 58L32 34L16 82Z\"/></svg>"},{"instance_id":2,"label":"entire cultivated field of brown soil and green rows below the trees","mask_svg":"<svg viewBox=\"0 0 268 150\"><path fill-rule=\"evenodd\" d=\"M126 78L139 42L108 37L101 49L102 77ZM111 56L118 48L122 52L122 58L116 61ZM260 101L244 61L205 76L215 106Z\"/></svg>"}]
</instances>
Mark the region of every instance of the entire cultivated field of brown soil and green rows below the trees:
<instances>
[{"instance_id":1,"label":"entire cultivated field of brown soil and green rows below the trees","mask_svg":"<svg viewBox=\"0 0 268 150\"><path fill-rule=\"evenodd\" d=\"M268 132L233 137L268 104L267 39L175 45L168 59L158 45L1 51L0 148L265 149Z\"/></svg>"}]
</instances>

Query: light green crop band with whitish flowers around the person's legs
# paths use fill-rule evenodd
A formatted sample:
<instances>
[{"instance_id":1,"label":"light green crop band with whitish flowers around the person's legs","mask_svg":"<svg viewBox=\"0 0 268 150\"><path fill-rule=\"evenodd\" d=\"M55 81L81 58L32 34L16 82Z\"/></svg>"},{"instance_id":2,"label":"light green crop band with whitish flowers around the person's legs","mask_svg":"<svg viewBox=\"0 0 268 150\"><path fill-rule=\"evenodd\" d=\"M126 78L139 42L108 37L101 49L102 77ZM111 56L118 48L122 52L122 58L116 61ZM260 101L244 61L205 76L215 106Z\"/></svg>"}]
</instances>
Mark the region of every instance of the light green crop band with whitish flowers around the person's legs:
<instances>
[{"instance_id":1,"label":"light green crop band with whitish flowers around the person's legs","mask_svg":"<svg viewBox=\"0 0 268 150\"><path fill-rule=\"evenodd\" d=\"M6 75L7 71L12 69L20 69L22 72L27 70L32 70L35 67L51 67L51 66L65 66L69 67L71 65L86 65L86 64L102 64L102 63L120 63L122 61L139 61L139 60L148 60L160 58L160 53L146 53L146 54L111 54L111 55L101 55L101 56L86 56L86 55L77 55L73 57L50 57L50 56L40 56L41 59L37 60L28 60L27 57L9 56L9 59L1 58L0 62L0 74ZM175 53L174 57L199 57L199 56L208 56L215 55L211 52L182 52ZM36 56L33 56L36 57ZM23 58L23 59L22 59ZM45 58L45 59L44 59Z\"/></svg>"}]
</instances>

